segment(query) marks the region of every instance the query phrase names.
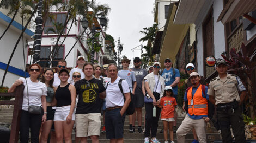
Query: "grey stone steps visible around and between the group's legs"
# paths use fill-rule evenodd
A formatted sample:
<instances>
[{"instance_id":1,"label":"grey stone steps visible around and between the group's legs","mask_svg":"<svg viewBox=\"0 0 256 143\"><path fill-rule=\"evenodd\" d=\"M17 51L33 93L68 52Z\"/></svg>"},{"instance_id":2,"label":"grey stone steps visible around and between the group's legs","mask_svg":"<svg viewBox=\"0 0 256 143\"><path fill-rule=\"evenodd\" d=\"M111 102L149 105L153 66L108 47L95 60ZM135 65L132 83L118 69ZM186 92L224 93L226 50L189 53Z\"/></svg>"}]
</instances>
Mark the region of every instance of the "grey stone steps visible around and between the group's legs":
<instances>
[{"instance_id":1,"label":"grey stone steps visible around and between the group's legs","mask_svg":"<svg viewBox=\"0 0 256 143\"><path fill-rule=\"evenodd\" d=\"M145 113L145 109L143 108L143 118L144 118L144 113ZM11 124L12 115L13 115L13 109L0 109L0 126L5 126L9 128ZM177 122L178 126L180 126L183 119L184 118L181 118L181 117L178 118L178 122ZM101 118L101 121L103 121L103 116ZM142 129L143 128L144 128L144 120L142 124ZM159 139L160 142L164 142L163 133L159 133L159 131L162 128L163 128L163 122L159 120L159 127L158 127L156 138ZM136 133L129 133L129 117L126 116L125 125L124 125L124 142L125 143L130 143L130 142L143 143L144 142L144 133L138 133L137 122L136 122L135 129L136 129ZM220 134L218 134L218 132L216 131L214 126L212 126L212 124L211 124L211 127L208 127L206 130L207 130L206 135L208 140L207 142L220 140ZM109 140L106 139L105 133L101 133L99 138L100 138L100 142L102 143L109 142ZM168 138L169 138L169 135L168 135ZM192 132L190 132L186 135L186 142L192 142L192 140L193 140L193 134ZM176 133L174 133L174 141L176 142ZM72 132L72 142L75 142L74 131ZM88 142L91 142L90 139L88 140Z\"/></svg>"}]
</instances>

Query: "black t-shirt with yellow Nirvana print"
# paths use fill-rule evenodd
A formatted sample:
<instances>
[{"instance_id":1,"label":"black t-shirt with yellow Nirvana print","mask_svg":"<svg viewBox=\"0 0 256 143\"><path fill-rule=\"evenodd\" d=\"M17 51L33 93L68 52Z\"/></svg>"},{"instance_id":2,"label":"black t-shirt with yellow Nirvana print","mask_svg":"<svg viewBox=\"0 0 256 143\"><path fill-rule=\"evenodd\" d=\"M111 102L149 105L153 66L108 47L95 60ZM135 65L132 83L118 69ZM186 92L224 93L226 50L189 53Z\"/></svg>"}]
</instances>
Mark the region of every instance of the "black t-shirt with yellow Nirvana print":
<instances>
[{"instance_id":1,"label":"black t-shirt with yellow Nirvana print","mask_svg":"<svg viewBox=\"0 0 256 143\"><path fill-rule=\"evenodd\" d=\"M76 114L100 113L102 99L99 95L106 90L102 82L95 78L82 79L75 83L75 87L78 94Z\"/></svg>"}]
</instances>

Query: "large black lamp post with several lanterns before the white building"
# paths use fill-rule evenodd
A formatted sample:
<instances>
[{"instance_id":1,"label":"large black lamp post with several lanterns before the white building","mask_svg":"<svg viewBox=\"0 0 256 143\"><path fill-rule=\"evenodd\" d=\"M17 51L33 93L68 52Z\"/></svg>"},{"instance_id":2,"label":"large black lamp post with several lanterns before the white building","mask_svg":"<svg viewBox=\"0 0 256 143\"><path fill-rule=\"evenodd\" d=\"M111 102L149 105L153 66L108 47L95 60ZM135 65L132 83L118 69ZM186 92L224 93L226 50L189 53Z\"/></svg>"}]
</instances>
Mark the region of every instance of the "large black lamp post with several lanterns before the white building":
<instances>
[{"instance_id":1,"label":"large black lamp post with several lanterns before the white building","mask_svg":"<svg viewBox=\"0 0 256 143\"><path fill-rule=\"evenodd\" d=\"M88 36L90 34L92 34L92 38L93 38L93 40L92 40L92 50L90 52L90 62L94 61L94 38L95 38L94 35L95 35L95 33L102 32L103 27L106 27L106 25L107 25L107 18L105 16L102 15L99 19L100 19L100 25L102 27L99 32L96 31L94 23L93 23L92 30L89 33L85 32ZM89 22L86 19L86 17L83 17L83 19L81 20L81 24L82 24L82 27L84 28L84 30L86 30L88 28Z\"/></svg>"}]
</instances>

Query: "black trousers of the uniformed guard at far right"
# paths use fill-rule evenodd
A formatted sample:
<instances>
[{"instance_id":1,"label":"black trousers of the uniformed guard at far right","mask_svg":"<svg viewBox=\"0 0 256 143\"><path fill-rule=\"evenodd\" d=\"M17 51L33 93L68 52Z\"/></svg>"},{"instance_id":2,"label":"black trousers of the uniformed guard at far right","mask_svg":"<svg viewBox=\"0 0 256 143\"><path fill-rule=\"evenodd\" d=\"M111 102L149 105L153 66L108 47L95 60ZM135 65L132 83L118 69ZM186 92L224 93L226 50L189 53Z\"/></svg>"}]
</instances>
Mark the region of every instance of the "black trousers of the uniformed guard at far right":
<instances>
[{"instance_id":1,"label":"black trousers of the uniformed guard at far right","mask_svg":"<svg viewBox=\"0 0 256 143\"><path fill-rule=\"evenodd\" d=\"M233 110L231 108L224 108L217 110L218 124L221 127L221 137L223 143L232 142L230 125L235 135L235 142L243 143L245 140L245 123L241 114L240 107Z\"/></svg>"}]
</instances>

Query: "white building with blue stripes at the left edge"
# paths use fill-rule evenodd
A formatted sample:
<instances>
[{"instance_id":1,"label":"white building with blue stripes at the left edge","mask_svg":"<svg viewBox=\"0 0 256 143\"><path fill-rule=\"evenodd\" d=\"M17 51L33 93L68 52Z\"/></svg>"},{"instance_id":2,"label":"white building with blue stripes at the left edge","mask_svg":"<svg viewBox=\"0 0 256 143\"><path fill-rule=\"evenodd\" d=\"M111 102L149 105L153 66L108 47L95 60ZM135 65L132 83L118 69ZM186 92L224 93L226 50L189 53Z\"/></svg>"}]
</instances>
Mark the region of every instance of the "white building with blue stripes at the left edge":
<instances>
[{"instance_id":1,"label":"white building with blue stripes at the left edge","mask_svg":"<svg viewBox=\"0 0 256 143\"><path fill-rule=\"evenodd\" d=\"M3 34L4 30L9 25L11 18L13 15L7 16L9 9L0 9L0 35ZM26 24L26 21L23 23ZM25 25L24 24L24 25ZM8 31L0 40L0 83L2 82L4 70L7 67L10 55L14 49L17 39L21 34L21 18L20 14L17 14L13 23L11 24ZM34 35L29 29L26 29L25 33L23 34L24 37L24 48L25 48L25 62L27 62L27 43L28 41L32 41L31 36ZM19 77L25 76L25 68L23 62L23 46L22 46L22 38L17 45L15 53L13 55L13 59L11 59L10 66L8 68L7 75L5 76L4 85L11 87L11 85L15 82L15 80L19 79ZM27 74L28 76L28 74Z\"/></svg>"}]
</instances>

